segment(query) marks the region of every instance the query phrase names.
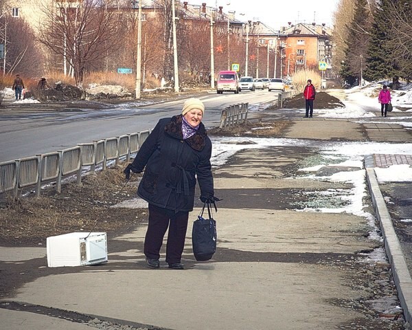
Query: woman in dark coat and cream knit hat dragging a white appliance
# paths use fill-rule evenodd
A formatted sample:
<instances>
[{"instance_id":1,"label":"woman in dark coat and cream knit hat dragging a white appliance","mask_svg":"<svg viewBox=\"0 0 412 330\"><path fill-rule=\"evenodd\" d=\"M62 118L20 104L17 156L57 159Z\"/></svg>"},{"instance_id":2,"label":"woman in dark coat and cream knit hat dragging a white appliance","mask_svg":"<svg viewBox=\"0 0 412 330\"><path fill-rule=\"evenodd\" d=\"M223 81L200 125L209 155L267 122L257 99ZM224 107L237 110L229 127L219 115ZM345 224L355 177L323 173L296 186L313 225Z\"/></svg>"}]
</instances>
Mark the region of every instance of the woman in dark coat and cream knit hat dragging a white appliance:
<instances>
[{"instance_id":1,"label":"woman in dark coat and cream knit hat dragging a white appliance","mask_svg":"<svg viewBox=\"0 0 412 330\"><path fill-rule=\"evenodd\" d=\"M194 205L196 177L201 200L218 200L211 174L211 141L201 122L204 111L201 100L190 98L181 115L159 120L124 171L129 177L130 170L141 173L146 168L137 195L149 203L144 254L151 268L160 266L159 252L169 228L166 262L169 268L183 270L181 256Z\"/></svg>"}]
</instances>

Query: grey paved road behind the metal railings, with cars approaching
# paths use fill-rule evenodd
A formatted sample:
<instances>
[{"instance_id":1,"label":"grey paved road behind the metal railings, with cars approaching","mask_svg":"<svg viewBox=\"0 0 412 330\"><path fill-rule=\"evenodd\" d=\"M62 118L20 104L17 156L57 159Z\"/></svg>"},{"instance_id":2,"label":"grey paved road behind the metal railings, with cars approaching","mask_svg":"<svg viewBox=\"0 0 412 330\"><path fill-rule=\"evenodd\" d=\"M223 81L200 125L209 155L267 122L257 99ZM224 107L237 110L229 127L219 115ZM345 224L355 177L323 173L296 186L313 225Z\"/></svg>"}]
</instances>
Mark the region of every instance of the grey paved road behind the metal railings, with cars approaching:
<instances>
[{"instance_id":1,"label":"grey paved road behind the metal railings, with cars approaching","mask_svg":"<svg viewBox=\"0 0 412 330\"><path fill-rule=\"evenodd\" d=\"M43 104L8 106L0 109L0 162L47 153L151 129L159 118L181 112L188 96L169 102L128 102L113 107L95 104L94 109L83 103L66 104L67 107L50 111ZM249 102L256 104L277 100L276 92L255 91L240 94L216 95L203 93L205 125L218 126L220 112L231 104ZM253 113L251 113L253 116Z\"/></svg>"}]
</instances>

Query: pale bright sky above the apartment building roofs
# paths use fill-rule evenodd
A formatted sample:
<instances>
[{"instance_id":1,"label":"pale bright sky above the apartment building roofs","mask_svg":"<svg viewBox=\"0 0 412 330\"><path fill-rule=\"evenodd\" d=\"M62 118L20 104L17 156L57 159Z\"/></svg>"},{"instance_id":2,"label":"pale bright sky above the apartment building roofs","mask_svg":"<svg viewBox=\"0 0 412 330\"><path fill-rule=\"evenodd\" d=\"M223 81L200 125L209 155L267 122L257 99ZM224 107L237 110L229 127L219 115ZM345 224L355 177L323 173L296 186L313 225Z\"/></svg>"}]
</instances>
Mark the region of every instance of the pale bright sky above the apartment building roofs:
<instances>
[{"instance_id":1,"label":"pale bright sky above the apartment building roofs","mask_svg":"<svg viewBox=\"0 0 412 330\"><path fill-rule=\"evenodd\" d=\"M183 1L183 0L182 0ZM332 16L340 0L185 0L191 5L206 3L222 6L223 12L235 11L240 21L261 21L275 30L288 22L325 23L332 28ZM230 5L227 5L230 3ZM244 15L241 15L244 14Z\"/></svg>"}]
</instances>

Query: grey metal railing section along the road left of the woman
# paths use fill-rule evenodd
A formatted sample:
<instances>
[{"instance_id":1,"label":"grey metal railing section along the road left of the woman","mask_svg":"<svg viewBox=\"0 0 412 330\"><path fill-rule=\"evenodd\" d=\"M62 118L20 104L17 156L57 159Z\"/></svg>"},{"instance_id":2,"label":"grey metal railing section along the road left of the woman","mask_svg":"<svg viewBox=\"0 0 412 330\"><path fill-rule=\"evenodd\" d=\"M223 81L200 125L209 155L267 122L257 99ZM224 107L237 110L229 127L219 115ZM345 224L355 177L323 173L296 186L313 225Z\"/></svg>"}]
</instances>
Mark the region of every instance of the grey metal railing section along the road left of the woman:
<instances>
[{"instance_id":1,"label":"grey metal railing section along the road left of the woman","mask_svg":"<svg viewBox=\"0 0 412 330\"><path fill-rule=\"evenodd\" d=\"M62 178L68 175L76 175L76 183L81 186L82 170L85 166L90 166L89 170L94 172L96 166L101 165L106 169L110 160L119 164L120 157L126 157L126 161L129 161L130 155L139 151L151 131L150 129L110 137L52 153L1 162L0 193L12 190L14 198L17 198L19 189L35 186L38 197L41 194L41 185L54 180L57 192L61 192Z\"/></svg>"}]
</instances>

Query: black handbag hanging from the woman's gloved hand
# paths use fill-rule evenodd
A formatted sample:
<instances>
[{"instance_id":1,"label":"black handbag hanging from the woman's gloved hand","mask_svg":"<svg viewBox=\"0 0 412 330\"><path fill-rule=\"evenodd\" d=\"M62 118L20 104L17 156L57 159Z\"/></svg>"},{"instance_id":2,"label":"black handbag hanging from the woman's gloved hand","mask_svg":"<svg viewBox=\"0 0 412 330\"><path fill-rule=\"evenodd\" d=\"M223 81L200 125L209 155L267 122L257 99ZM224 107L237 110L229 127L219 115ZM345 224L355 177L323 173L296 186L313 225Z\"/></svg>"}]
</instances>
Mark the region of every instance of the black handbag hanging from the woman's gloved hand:
<instances>
[{"instance_id":1,"label":"black handbag hanging from the woman's gloved hand","mask_svg":"<svg viewBox=\"0 0 412 330\"><path fill-rule=\"evenodd\" d=\"M206 204L209 219L203 218ZM192 229L192 248L196 261L211 259L216 252L217 239L216 221L212 217L210 204L205 203L201 214L198 215L198 219L194 221Z\"/></svg>"}]
</instances>

